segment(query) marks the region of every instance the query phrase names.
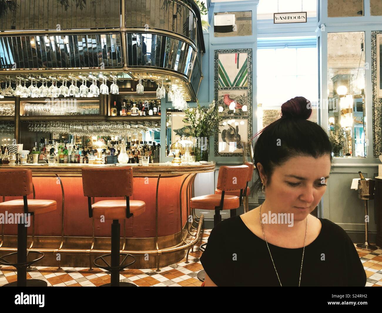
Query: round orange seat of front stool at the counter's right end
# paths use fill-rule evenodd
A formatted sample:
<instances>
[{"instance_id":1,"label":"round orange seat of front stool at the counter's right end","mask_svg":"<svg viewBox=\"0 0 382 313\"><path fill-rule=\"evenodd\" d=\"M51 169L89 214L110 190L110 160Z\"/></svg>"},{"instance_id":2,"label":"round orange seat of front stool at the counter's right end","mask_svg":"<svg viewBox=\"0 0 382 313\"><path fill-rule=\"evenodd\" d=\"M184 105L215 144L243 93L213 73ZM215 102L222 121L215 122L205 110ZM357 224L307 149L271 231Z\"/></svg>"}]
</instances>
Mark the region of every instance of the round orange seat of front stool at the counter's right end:
<instances>
[{"instance_id":1,"label":"round orange seat of front stool at the counter's right end","mask_svg":"<svg viewBox=\"0 0 382 313\"><path fill-rule=\"evenodd\" d=\"M220 206L221 195L205 195L191 198L190 206L193 209L215 210ZM239 197L224 195L224 204L222 210L231 210L239 207Z\"/></svg>"}]
</instances>

